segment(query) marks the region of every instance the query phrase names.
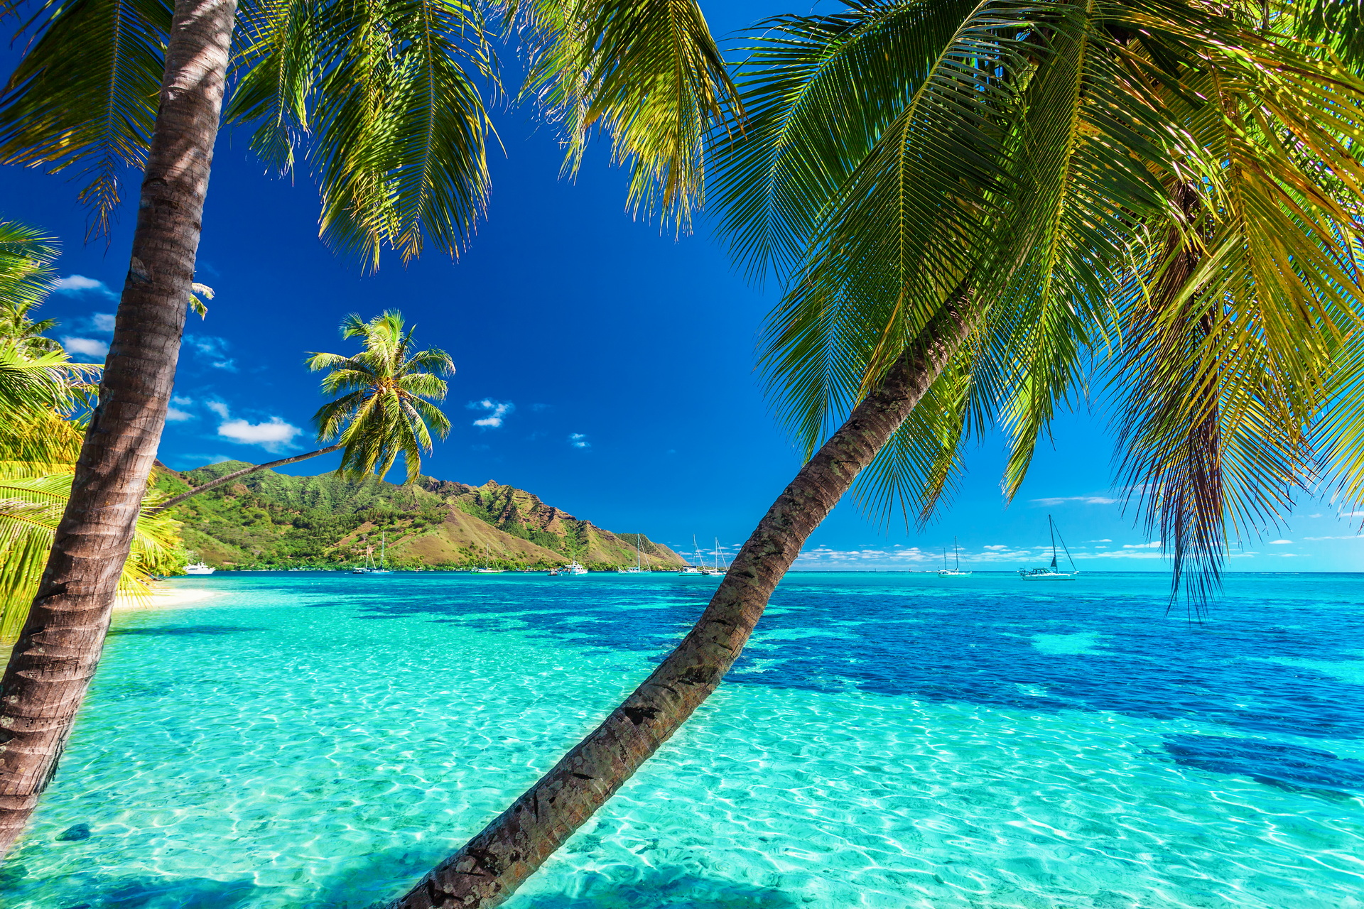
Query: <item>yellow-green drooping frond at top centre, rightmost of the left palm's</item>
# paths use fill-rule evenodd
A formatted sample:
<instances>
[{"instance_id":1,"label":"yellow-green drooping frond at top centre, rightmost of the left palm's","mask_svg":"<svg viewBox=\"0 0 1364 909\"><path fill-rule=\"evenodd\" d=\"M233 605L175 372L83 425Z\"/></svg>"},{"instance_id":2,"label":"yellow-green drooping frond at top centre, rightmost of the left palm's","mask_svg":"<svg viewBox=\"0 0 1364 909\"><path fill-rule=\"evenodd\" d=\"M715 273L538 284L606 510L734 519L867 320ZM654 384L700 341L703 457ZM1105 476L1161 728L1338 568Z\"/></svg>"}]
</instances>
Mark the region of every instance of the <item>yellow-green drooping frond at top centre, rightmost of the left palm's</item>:
<instances>
[{"instance_id":1,"label":"yellow-green drooping frond at top centre, rightmost of the left palm's","mask_svg":"<svg viewBox=\"0 0 1364 909\"><path fill-rule=\"evenodd\" d=\"M705 204L713 127L742 106L696 0L522 0L507 22L529 50L524 97L565 134L576 173L593 128L630 168L626 204L690 229ZM741 125L742 128L742 125Z\"/></svg>"}]
</instances>

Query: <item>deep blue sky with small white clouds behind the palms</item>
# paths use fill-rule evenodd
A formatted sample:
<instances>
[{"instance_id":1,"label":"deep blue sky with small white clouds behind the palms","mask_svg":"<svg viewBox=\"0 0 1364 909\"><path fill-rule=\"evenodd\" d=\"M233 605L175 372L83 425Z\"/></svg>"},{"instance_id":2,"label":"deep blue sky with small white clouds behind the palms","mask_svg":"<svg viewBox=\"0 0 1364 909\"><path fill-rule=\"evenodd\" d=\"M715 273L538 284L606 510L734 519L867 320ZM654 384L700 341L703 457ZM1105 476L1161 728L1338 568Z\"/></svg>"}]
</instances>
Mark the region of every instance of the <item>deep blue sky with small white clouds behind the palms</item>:
<instances>
[{"instance_id":1,"label":"deep blue sky with small white clouds behind the palms","mask_svg":"<svg viewBox=\"0 0 1364 909\"><path fill-rule=\"evenodd\" d=\"M787 10L704 5L717 33ZM308 450L321 398L306 352L349 352L353 342L337 333L345 313L398 308L419 326L420 343L446 349L458 369L445 406L454 431L424 473L494 478L612 530L679 549L690 549L693 534L707 546L719 537L732 551L799 466L753 373L776 289L747 285L704 225L675 241L633 221L625 174L607 166L604 147L569 183L552 129L525 110L502 112L496 124L506 154L491 158L491 207L466 253L458 262L428 253L406 268L391 259L370 277L316 238L306 179L267 176L247 136L224 132L198 274L217 298L207 319L190 316L161 458L187 469ZM64 244L64 286L42 315L61 320L53 334L68 349L98 360L134 213L121 211L108 247L83 244L75 191L63 176L0 168L0 214ZM319 458L291 470L331 466ZM887 529L844 503L798 566L932 568L953 537L979 568L1042 564L1053 514L1082 567L1165 570L1155 538L1112 488L1102 416L1063 416L1009 506L1000 439L974 448L967 467L959 495L926 530L903 521ZM1359 570L1364 515L1339 511L1304 503L1286 526L1252 533L1230 568Z\"/></svg>"}]
</instances>

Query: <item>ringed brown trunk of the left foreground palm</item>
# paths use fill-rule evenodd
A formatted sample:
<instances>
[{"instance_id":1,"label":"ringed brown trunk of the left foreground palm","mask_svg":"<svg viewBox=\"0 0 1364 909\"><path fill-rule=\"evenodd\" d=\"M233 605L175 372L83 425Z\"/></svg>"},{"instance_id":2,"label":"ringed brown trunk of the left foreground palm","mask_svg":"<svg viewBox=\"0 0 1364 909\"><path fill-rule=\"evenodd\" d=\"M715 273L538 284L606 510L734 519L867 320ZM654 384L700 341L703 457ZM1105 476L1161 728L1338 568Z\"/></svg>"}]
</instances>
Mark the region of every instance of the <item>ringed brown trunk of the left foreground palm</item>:
<instances>
[{"instance_id":1,"label":"ringed brown trunk of the left foreground palm","mask_svg":"<svg viewBox=\"0 0 1364 909\"><path fill-rule=\"evenodd\" d=\"M236 0L176 0L100 403L29 620L0 681L0 854L56 773L104 649L155 459L194 282Z\"/></svg>"}]
</instances>

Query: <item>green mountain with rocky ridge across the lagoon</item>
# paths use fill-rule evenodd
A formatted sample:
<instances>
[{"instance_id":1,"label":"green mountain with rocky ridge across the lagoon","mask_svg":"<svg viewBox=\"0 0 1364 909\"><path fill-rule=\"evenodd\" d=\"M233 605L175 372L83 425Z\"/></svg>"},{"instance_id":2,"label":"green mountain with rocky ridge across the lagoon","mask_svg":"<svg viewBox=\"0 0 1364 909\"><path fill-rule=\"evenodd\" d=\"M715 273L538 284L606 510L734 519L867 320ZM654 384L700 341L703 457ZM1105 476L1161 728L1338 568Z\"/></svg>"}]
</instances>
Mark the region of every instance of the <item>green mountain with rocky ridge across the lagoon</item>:
<instances>
[{"instance_id":1,"label":"green mountain with rocky ridge across the lagoon","mask_svg":"<svg viewBox=\"0 0 1364 909\"><path fill-rule=\"evenodd\" d=\"M157 465L158 489L183 492L247 466L226 461L186 473ZM225 568L359 564L387 540L394 567L533 568L577 557L591 568L634 564L636 544L653 567L685 560L642 534L611 533L488 480L471 487L420 477L394 485L375 477L292 477L261 470L201 493L172 511L186 548ZM381 537L382 534L382 537Z\"/></svg>"}]
</instances>

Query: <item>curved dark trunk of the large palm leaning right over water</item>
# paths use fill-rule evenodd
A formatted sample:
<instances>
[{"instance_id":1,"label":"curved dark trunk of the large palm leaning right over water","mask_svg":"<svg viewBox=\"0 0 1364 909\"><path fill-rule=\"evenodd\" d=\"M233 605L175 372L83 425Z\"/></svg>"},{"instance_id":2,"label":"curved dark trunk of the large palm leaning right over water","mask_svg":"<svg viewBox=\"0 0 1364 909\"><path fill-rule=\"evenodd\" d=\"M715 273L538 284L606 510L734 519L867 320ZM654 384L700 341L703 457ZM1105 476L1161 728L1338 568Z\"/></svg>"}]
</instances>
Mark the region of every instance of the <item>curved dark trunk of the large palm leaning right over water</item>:
<instances>
[{"instance_id":1,"label":"curved dark trunk of the large palm leaning right over water","mask_svg":"<svg viewBox=\"0 0 1364 909\"><path fill-rule=\"evenodd\" d=\"M687 636L600 726L391 909L484 909L510 897L720 684L801 546L872 463L968 330L966 290L926 342L801 467L735 556Z\"/></svg>"}]
</instances>

